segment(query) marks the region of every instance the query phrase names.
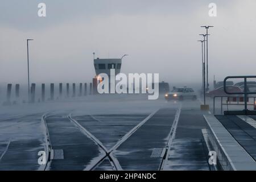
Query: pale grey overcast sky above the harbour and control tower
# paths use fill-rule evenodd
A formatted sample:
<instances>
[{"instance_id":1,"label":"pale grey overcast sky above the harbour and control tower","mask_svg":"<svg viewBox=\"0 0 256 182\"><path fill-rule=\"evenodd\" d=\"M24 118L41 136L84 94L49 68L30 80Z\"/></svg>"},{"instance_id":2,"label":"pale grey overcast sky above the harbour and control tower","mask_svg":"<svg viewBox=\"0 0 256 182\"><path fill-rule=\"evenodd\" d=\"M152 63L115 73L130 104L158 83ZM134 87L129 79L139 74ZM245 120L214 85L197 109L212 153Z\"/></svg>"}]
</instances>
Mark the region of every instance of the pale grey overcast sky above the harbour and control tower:
<instances>
[{"instance_id":1,"label":"pale grey overcast sky above the harbour and control tower","mask_svg":"<svg viewBox=\"0 0 256 182\"><path fill-rule=\"evenodd\" d=\"M38 3L47 17L39 18ZM217 5L209 17L208 5ZM123 54L123 73L159 73L160 81L201 81L198 34L209 30L209 78L255 75L255 0L1 0L0 82L88 82L100 58Z\"/></svg>"}]
</instances>

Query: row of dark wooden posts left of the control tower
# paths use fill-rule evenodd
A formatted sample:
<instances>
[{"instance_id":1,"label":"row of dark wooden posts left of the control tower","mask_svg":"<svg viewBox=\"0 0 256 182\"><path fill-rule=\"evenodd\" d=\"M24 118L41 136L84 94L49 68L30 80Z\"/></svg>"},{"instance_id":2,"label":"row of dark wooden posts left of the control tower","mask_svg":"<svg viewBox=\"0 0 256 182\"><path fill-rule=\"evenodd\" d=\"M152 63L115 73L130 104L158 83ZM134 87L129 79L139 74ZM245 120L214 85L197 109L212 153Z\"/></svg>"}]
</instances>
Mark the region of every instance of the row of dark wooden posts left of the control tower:
<instances>
[{"instance_id":1,"label":"row of dark wooden posts left of the control tower","mask_svg":"<svg viewBox=\"0 0 256 182\"><path fill-rule=\"evenodd\" d=\"M94 80L93 80L93 83L91 82L89 84L89 94L96 94L96 91L97 91L97 83L94 83ZM4 103L4 105L10 105L11 104L11 90L12 90L12 86L13 84L7 84L7 100L6 102ZM62 98L63 97L63 83L60 83L59 84L59 96L56 97L56 98ZM35 102L35 88L36 88L36 84L31 84L31 87L30 87L30 98L29 98L29 101L28 102L32 102L34 103ZM82 88L84 88L84 92L82 92ZM48 100L55 100L55 84L50 84L50 97ZM79 84L79 94L77 95L76 94L76 84L73 83L72 84L72 95L70 94L70 85L69 83L66 84L66 94L64 97L76 97L76 96L86 96L88 93L87 93L87 84L84 83L80 83ZM19 84L15 84L15 98L16 100L19 100L19 97L20 97L20 85ZM16 100L14 102L16 102ZM42 84L41 85L41 98L39 101L42 101L44 102L46 100L46 84ZM23 101L24 102L24 101Z\"/></svg>"}]
</instances>

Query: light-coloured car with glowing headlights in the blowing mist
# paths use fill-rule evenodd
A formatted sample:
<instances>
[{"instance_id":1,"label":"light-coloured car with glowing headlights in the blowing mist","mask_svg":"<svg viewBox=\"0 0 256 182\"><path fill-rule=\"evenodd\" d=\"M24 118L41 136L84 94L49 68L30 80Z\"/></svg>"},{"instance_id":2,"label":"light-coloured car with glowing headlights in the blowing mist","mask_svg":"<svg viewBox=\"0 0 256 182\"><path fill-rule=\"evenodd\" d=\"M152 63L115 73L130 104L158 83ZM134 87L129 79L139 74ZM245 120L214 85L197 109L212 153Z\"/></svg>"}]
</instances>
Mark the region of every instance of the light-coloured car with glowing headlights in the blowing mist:
<instances>
[{"instance_id":1,"label":"light-coloured car with glowing headlights in the blowing mist","mask_svg":"<svg viewBox=\"0 0 256 182\"><path fill-rule=\"evenodd\" d=\"M167 101L184 99L196 100L196 93L192 88L175 88L172 92L165 94L164 97Z\"/></svg>"}]
</instances>

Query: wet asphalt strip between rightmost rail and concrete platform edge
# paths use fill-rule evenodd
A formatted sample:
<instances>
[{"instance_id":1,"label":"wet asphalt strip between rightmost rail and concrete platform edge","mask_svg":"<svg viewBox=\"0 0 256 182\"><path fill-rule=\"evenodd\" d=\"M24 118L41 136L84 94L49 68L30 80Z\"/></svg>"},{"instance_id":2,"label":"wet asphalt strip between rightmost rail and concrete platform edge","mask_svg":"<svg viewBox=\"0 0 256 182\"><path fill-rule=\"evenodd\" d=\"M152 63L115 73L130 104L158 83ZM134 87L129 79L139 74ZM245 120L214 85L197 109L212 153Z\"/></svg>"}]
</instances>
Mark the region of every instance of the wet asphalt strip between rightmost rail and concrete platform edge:
<instances>
[{"instance_id":1,"label":"wet asphalt strip between rightmost rail and concrete platform edge","mask_svg":"<svg viewBox=\"0 0 256 182\"><path fill-rule=\"evenodd\" d=\"M209 170L201 129L206 123L201 111L182 110L170 156L164 170Z\"/></svg>"}]
</instances>

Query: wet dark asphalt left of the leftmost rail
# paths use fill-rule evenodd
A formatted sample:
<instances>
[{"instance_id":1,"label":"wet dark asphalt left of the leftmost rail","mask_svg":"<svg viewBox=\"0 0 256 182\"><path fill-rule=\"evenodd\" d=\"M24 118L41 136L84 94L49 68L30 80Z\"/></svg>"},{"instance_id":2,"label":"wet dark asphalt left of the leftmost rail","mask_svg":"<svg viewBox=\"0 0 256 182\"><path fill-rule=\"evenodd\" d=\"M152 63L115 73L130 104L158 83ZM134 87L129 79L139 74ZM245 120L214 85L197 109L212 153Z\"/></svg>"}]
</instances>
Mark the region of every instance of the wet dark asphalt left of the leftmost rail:
<instances>
[{"instance_id":1,"label":"wet dark asphalt left of the leftmost rail","mask_svg":"<svg viewBox=\"0 0 256 182\"><path fill-rule=\"evenodd\" d=\"M38 152L44 150L42 113L0 121L0 171L38 170Z\"/></svg>"}]
</instances>

